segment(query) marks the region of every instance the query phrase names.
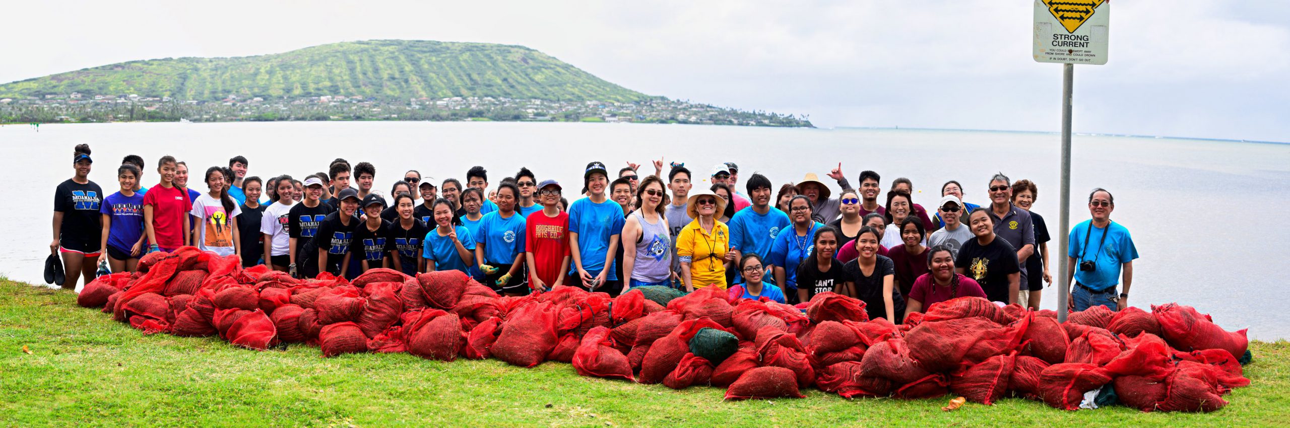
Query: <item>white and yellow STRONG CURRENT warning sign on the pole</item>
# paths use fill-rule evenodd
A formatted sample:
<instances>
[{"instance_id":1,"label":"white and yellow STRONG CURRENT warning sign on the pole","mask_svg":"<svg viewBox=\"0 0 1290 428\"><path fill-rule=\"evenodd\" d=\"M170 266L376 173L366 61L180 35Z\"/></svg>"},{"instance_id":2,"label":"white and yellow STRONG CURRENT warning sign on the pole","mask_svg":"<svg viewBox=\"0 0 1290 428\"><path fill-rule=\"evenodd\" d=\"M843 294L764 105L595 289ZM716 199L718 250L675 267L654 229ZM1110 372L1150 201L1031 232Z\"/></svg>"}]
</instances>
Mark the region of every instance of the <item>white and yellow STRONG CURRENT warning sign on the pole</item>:
<instances>
[{"instance_id":1,"label":"white and yellow STRONG CURRENT warning sign on the pole","mask_svg":"<svg viewBox=\"0 0 1290 428\"><path fill-rule=\"evenodd\" d=\"M1035 61L1107 63L1111 0L1035 0Z\"/></svg>"}]
</instances>

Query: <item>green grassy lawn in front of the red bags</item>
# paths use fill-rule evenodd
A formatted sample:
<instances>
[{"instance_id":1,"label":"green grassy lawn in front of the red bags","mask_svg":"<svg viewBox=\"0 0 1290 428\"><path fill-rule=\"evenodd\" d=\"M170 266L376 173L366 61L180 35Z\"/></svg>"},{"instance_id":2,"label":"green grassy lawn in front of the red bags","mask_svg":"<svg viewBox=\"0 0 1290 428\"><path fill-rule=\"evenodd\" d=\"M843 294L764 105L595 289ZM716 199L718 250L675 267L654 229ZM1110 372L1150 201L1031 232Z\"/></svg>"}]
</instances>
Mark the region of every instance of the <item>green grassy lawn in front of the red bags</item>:
<instances>
[{"instance_id":1,"label":"green grassy lawn in front of the red bags","mask_svg":"<svg viewBox=\"0 0 1290 428\"><path fill-rule=\"evenodd\" d=\"M559 362L322 358L307 345L254 352L217 338L146 336L77 307L70 291L0 280L0 427L1281 425L1290 414L1290 343L1250 348L1253 385L1211 414L1062 411L1017 398L944 413L951 397L844 400L815 389L802 400L725 402L720 388L583 378Z\"/></svg>"}]
</instances>

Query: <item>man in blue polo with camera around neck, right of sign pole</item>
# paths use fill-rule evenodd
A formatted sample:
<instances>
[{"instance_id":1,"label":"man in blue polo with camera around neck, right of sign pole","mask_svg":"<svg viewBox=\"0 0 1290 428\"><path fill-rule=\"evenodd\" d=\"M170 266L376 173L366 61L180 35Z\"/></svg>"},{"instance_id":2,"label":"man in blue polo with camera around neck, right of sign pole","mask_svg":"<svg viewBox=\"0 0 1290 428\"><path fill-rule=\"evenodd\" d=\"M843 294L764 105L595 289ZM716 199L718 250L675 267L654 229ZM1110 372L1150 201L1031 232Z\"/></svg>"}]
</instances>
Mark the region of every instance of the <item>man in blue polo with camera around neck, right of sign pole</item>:
<instances>
[{"instance_id":1,"label":"man in blue polo with camera around neck, right of sign pole","mask_svg":"<svg viewBox=\"0 0 1290 428\"><path fill-rule=\"evenodd\" d=\"M1138 258L1138 248L1127 228L1111 222L1115 201L1107 190L1093 190L1089 195L1093 219L1071 229L1067 266L1075 282L1068 307L1073 311L1084 311L1095 304L1112 311L1129 307L1133 260ZM1116 295L1121 271L1124 291Z\"/></svg>"}]
</instances>

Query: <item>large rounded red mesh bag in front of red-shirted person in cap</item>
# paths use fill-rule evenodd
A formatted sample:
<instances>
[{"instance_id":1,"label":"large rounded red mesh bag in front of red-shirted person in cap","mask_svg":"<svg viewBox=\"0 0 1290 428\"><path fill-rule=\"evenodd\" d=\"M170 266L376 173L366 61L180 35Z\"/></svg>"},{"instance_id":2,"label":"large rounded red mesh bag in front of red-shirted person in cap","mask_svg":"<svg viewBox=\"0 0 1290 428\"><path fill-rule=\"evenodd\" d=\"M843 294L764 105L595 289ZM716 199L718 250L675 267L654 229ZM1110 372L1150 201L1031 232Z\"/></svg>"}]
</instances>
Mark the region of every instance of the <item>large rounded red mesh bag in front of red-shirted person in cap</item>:
<instances>
[{"instance_id":1,"label":"large rounded red mesh bag in front of red-shirted person in cap","mask_svg":"<svg viewBox=\"0 0 1290 428\"><path fill-rule=\"evenodd\" d=\"M559 339L555 316L550 303L530 303L515 309L493 343L493 357L521 367L542 364Z\"/></svg>"}]
</instances>

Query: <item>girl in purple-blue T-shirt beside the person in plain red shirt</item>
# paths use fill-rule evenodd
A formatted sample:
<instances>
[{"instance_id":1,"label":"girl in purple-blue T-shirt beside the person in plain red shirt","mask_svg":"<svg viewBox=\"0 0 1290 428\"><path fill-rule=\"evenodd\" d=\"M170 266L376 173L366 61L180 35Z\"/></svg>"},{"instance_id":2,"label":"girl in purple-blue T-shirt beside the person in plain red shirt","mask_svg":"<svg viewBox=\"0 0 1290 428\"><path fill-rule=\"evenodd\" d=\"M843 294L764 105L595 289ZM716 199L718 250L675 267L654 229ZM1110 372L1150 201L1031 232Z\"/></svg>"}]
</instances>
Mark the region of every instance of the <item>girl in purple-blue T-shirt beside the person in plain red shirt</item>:
<instances>
[{"instance_id":1,"label":"girl in purple-blue T-shirt beside the person in plain red shirt","mask_svg":"<svg viewBox=\"0 0 1290 428\"><path fill-rule=\"evenodd\" d=\"M139 182L139 169L134 164L121 164L116 169L116 180L121 191L103 199L99 213L103 215L103 241L99 263L107 258L112 272L134 272L143 255L143 193L135 192Z\"/></svg>"}]
</instances>

